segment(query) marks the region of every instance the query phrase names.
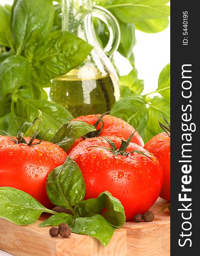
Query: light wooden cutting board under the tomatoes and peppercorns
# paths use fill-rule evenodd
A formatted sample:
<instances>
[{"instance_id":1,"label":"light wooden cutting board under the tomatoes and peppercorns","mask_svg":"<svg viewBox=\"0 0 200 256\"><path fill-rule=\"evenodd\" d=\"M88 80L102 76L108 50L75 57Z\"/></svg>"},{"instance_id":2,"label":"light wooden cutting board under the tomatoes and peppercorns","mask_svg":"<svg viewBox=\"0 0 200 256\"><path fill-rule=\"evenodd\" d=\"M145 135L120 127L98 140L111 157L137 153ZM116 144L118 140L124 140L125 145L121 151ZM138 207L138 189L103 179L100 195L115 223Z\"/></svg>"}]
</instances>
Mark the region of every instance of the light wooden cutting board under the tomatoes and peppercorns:
<instances>
[{"instance_id":1,"label":"light wooden cutting board under the tomatoes and peppercorns","mask_svg":"<svg viewBox=\"0 0 200 256\"><path fill-rule=\"evenodd\" d=\"M97 239L71 233L69 238L50 237L49 228L38 225L48 216L28 226L18 226L0 218L0 249L15 256L169 256L170 213L159 213L168 202L158 198L151 207L152 222L126 222L114 232L109 245Z\"/></svg>"}]
</instances>

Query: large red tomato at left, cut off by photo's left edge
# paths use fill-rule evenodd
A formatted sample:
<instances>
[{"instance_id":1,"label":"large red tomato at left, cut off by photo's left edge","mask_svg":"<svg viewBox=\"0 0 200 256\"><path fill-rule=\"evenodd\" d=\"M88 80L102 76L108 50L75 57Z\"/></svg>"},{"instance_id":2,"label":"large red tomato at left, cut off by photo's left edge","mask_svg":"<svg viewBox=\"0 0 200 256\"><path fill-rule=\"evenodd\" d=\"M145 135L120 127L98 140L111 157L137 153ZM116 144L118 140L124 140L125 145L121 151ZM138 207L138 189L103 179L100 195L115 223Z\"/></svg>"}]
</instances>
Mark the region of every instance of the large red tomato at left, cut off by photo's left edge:
<instances>
[{"instance_id":1,"label":"large red tomato at left, cut off by photo's left edge","mask_svg":"<svg viewBox=\"0 0 200 256\"><path fill-rule=\"evenodd\" d=\"M37 142L35 139L33 144ZM62 148L47 141L29 146L0 136L0 186L23 190L45 207L52 208L46 194L46 180L49 172L65 162L66 156Z\"/></svg>"}]
</instances>

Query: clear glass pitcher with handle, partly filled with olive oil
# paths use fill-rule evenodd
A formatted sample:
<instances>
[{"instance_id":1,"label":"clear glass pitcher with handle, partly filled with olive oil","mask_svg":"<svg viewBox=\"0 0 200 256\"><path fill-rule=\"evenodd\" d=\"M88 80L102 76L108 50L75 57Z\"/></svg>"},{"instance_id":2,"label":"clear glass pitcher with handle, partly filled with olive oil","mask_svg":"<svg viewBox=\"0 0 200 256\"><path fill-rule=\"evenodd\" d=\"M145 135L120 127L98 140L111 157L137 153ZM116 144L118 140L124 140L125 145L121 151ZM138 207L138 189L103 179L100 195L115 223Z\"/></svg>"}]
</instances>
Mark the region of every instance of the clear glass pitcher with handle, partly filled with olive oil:
<instances>
[{"instance_id":1,"label":"clear glass pitcher with handle, partly filled with olive oil","mask_svg":"<svg viewBox=\"0 0 200 256\"><path fill-rule=\"evenodd\" d=\"M62 29L94 48L79 67L53 79L50 98L66 107L74 117L105 113L120 98L117 73L107 57L119 46L119 24L106 9L92 6L91 0L63 0L62 13ZM109 29L109 42L104 49L97 41L92 17L103 20Z\"/></svg>"}]
</instances>

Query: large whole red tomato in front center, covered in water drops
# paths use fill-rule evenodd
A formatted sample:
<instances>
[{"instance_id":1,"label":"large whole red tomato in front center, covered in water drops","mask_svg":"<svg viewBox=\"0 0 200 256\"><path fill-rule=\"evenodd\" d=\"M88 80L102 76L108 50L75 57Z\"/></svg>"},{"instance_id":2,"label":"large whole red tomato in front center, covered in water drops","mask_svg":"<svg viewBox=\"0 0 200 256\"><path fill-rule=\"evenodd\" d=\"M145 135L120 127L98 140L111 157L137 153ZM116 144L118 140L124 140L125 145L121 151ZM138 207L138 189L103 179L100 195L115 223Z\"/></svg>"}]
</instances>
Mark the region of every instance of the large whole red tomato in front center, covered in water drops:
<instances>
[{"instance_id":1,"label":"large whole red tomato in front center, covered in water drops","mask_svg":"<svg viewBox=\"0 0 200 256\"><path fill-rule=\"evenodd\" d=\"M120 138L107 138L120 148ZM135 214L149 210L160 194L163 186L160 163L135 143L130 143L126 152L142 151L151 158L138 152L115 157L103 147L111 148L111 145L103 137L90 138L79 143L69 154L82 171L86 183L85 199L97 198L100 192L109 191L123 204L126 221L132 221Z\"/></svg>"}]
</instances>

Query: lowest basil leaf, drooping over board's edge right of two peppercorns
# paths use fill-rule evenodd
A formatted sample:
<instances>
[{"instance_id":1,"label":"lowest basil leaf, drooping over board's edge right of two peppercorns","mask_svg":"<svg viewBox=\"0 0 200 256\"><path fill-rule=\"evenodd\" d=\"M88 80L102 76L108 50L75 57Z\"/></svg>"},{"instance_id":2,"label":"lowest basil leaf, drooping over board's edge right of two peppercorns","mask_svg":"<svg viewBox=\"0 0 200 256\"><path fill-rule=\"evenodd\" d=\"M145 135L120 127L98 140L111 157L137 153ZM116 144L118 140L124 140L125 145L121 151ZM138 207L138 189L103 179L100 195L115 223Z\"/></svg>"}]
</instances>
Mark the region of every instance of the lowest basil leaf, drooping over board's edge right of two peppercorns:
<instances>
[{"instance_id":1,"label":"lowest basil leaf, drooping over board's edge right of two peppercorns","mask_svg":"<svg viewBox=\"0 0 200 256\"><path fill-rule=\"evenodd\" d=\"M99 214L85 218L74 218L70 228L74 233L85 234L98 239L104 246L109 244L114 234L114 227Z\"/></svg>"}]
</instances>

